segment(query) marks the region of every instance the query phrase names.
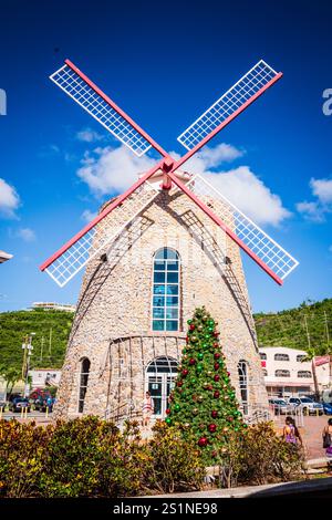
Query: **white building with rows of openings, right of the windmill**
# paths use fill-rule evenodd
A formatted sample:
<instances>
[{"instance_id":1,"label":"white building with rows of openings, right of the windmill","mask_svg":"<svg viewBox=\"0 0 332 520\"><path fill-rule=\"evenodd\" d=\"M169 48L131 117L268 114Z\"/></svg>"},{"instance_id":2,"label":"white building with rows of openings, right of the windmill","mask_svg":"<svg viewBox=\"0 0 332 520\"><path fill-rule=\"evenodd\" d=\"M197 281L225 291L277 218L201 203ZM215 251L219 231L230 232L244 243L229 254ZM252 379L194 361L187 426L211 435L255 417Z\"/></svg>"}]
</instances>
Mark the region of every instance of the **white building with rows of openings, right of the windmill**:
<instances>
[{"instance_id":1,"label":"white building with rows of openings, right of the windmill","mask_svg":"<svg viewBox=\"0 0 332 520\"><path fill-rule=\"evenodd\" d=\"M312 363L303 362L305 351L286 346L259 349L269 396L290 397L314 393Z\"/></svg>"}]
</instances>

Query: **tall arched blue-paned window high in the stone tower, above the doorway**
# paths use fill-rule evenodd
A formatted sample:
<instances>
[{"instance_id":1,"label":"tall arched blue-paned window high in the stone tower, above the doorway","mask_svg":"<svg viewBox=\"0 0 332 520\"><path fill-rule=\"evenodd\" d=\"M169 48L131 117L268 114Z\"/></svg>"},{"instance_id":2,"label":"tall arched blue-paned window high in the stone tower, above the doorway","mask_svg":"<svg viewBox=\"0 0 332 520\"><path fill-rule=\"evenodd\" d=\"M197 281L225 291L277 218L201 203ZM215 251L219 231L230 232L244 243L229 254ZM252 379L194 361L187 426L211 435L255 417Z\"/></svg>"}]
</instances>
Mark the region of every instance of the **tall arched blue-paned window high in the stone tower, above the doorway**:
<instances>
[{"instance_id":1,"label":"tall arched blue-paned window high in the stone tower, above the doorway","mask_svg":"<svg viewBox=\"0 0 332 520\"><path fill-rule=\"evenodd\" d=\"M159 249L154 257L153 331L179 330L179 266L174 249Z\"/></svg>"}]
</instances>

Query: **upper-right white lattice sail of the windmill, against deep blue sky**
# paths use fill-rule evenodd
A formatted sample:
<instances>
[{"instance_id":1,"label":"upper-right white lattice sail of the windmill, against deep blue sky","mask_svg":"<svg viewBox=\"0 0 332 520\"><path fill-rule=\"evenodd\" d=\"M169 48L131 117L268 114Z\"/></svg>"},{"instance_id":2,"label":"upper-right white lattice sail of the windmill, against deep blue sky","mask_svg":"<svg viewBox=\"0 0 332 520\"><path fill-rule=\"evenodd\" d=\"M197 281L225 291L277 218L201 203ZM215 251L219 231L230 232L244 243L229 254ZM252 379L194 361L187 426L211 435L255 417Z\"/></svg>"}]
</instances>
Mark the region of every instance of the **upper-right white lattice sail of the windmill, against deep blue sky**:
<instances>
[{"instance_id":1,"label":"upper-right white lattice sail of the windmill, against deep blue sky","mask_svg":"<svg viewBox=\"0 0 332 520\"><path fill-rule=\"evenodd\" d=\"M177 141L188 150L193 149L277 75L278 72L263 60L260 60L234 86L222 94L216 103L185 129Z\"/></svg>"}]
</instances>

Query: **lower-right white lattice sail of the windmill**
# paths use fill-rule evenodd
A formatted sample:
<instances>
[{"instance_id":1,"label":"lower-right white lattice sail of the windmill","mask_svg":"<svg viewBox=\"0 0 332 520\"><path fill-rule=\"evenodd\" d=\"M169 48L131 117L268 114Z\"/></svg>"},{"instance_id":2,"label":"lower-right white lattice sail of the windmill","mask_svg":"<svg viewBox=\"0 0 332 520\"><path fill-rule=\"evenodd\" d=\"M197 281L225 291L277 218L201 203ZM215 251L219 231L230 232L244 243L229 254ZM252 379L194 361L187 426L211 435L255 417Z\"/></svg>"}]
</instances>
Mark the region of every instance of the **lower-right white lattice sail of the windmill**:
<instances>
[{"instance_id":1,"label":"lower-right white lattice sail of the windmill","mask_svg":"<svg viewBox=\"0 0 332 520\"><path fill-rule=\"evenodd\" d=\"M231 204L203 176L194 175L186 185L263 262L284 280L299 264L276 240Z\"/></svg>"}]
</instances>

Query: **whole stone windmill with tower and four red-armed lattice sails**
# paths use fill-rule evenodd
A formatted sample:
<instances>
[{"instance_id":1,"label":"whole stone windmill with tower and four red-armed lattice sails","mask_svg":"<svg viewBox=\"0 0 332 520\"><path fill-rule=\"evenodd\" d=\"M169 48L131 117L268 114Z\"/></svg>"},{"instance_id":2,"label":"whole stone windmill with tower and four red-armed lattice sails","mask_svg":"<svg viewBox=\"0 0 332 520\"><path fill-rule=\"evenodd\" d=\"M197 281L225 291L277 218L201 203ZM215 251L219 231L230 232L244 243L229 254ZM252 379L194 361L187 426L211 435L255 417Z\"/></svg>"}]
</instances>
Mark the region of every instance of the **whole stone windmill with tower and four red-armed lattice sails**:
<instances>
[{"instance_id":1,"label":"whole stone windmill with tower and four red-armed lattice sails","mask_svg":"<svg viewBox=\"0 0 332 520\"><path fill-rule=\"evenodd\" d=\"M135 154L153 147L162 156L41 267L61 287L86 268L56 416L135 417L149 389L155 416L163 417L186 322L201 305L219 322L245 414L267 406L240 249L279 284L298 262L203 176L181 166L281 75L258 62L179 136L188 150L179 160L72 62L51 76Z\"/></svg>"}]
</instances>

